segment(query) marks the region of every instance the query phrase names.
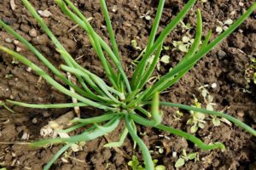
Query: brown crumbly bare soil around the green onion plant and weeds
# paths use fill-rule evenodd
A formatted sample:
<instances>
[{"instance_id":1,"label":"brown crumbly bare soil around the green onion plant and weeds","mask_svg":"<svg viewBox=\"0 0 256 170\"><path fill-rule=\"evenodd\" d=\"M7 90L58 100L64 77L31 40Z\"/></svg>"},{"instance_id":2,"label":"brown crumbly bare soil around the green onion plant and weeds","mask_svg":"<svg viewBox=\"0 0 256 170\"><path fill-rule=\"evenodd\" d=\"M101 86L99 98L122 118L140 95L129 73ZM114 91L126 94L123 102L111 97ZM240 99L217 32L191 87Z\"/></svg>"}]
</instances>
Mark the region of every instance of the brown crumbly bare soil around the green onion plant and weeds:
<instances>
[{"instance_id":1,"label":"brown crumbly bare soil around the green onion plant and weeds","mask_svg":"<svg viewBox=\"0 0 256 170\"><path fill-rule=\"evenodd\" d=\"M90 43L82 29L68 20L52 0L31 0L37 9L48 9L53 15L44 18L49 28L55 33L55 36L63 42L68 52L74 58L79 58L79 64L95 72L104 78L104 71L100 66L96 54L90 47ZM91 25L96 31L108 41L108 33L100 10L99 1L79 0L73 1L86 17L92 17ZM131 78L134 65L131 65L132 59L136 59L139 51L131 47L131 40L136 39L138 45L145 47L147 38L152 26L153 20L140 18L147 11L154 18L158 1L117 1L108 0L108 8L113 20L113 29L116 33L120 53L126 73ZM172 20L177 12L183 7L186 1L183 0L166 0L163 17L160 21L160 30ZM28 13L26 8L15 1L16 8L12 10L9 0L0 2L0 18L15 31L32 42L44 56L49 59L55 66L63 63L59 54L56 53L55 47L37 25L36 21ZM185 18L185 23L191 23L195 27L195 9L201 8L204 22L204 35L210 29L213 30L213 37L217 36L214 31L218 26L218 20L227 19L236 20L242 12L253 1L247 0L208 0L207 3L197 3L189 15ZM116 8L116 11L113 10ZM37 35L30 34L29 31L35 29ZM190 31L195 33L195 29ZM183 36L181 27L167 38L165 45L172 47L173 40L180 40ZM6 42L10 38L12 42ZM45 71L46 67L36 59L22 44L15 44L14 37L0 28L0 44L9 48L20 48L20 53L32 59ZM162 64L160 71L154 74L163 75L170 67L177 64L177 61L183 56L172 49L166 50L163 54L168 54L172 58L170 64ZM82 56L82 57L81 57ZM217 88L208 88L214 97L215 110L226 111L232 116L236 116L249 126L256 128L256 95L255 85L250 84L252 94L243 92L246 87L244 72L249 65L249 58L256 57L256 13L252 14L245 23L240 26L230 37L213 49L207 57L201 59L195 68L177 82L172 88L168 89L162 95L162 99L187 105L193 104L193 94L203 102L201 92L198 90L204 84L217 83ZM10 77L6 77L12 75ZM15 64L13 59L7 54L0 53L0 99L15 99L18 101L31 103L64 103L70 102L65 95L58 93L55 88L49 86L44 80L40 80L37 75L29 71L25 65ZM49 148L32 149L26 142L40 139L39 130L50 120L69 111L61 110L35 110L12 106L15 114L1 108L0 110L0 167L8 169L43 169L51 156L61 148L61 145ZM172 127L177 127L189 132L189 126L186 122L189 113L184 111L182 120L175 119L177 109L162 108L165 117L164 123ZM83 116L95 116L97 111L82 110ZM122 130L120 126L116 131L108 135L108 139L117 140ZM159 160L159 164L166 166L166 169L174 169L177 156L181 155L182 150L199 153L200 161L188 161L180 169L256 169L256 139L252 135L245 133L240 128L229 126L221 123L219 127L214 127L211 121L207 121L206 127L199 130L195 135L204 140L206 143L221 141L226 145L227 150L204 151L198 150L194 144L174 136L172 134L157 131L155 129L138 127L138 130L145 144L150 150L154 150L152 156ZM28 140L22 140L24 133L29 134ZM166 136L163 138L160 134ZM24 137L24 136L23 136ZM5 144L4 144L5 143ZM99 138L88 142L83 151L72 153L67 162L58 160L52 169L129 169L127 162L129 156L137 155L142 159L139 150L132 149L131 139L125 139L125 144L120 150L104 148L103 144L107 143L106 138ZM155 146L164 148L160 154ZM173 151L177 156L173 157Z\"/></svg>"}]
</instances>

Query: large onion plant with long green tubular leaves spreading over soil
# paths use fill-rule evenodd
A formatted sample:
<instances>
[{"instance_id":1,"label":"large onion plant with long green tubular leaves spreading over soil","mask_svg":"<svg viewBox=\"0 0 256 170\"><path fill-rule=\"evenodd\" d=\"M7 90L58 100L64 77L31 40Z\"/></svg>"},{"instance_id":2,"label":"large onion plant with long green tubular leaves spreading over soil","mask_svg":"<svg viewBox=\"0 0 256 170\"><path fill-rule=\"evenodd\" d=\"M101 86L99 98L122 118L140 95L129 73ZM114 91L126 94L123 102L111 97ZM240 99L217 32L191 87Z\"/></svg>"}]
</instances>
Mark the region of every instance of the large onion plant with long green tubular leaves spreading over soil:
<instances>
[{"instance_id":1,"label":"large onion plant with long green tubular leaves spreading over soil","mask_svg":"<svg viewBox=\"0 0 256 170\"><path fill-rule=\"evenodd\" d=\"M67 150L71 144L78 143L80 141L89 141L101 137L102 135L111 133L116 127L119 126L119 122L124 121L125 127L123 133L120 134L118 142L106 144L106 147L119 147L123 144L126 136L131 135L131 139L138 145L139 149L142 150L143 160L145 161L145 168L147 170L154 169L154 162L150 156L150 152L143 143L143 139L137 134L137 126L154 127L163 130L167 133L172 133L177 136L183 137L194 143L196 147L201 150L213 150L220 149L224 150L224 144L215 142L212 144L205 144L201 139L196 138L194 135L183 132L182 130L168 127L162 124L162 115L160 111L160 105L166 105L170 107L177 107L188 111L199 111L204 114L212 116L224 117L230 122L233 122L236 126L243 128L248 133L256 136L256 131L247 126L247 124L237 120L233 116L229 116L223 112L218 111L207 111L205 109L195 108L189 105L174 104L166 101L160 101L160 93L170 88L175 82L181 79L196 62L204 57L212 48L216 47L218 43L222 42L225 37L229 36L230 33L236 30L241 23L247 19L247 17L253 13L256 8L256 3L247 9L247 11L241 15L241 17L234 22L226 31L218 35L214 40L210 41L212 37L212 31L208 31L206 37L202 37L202 18L200 9L196 11L196 33L195 41L189 48L187 54L184 54L183 59L173 67L171 71L166 75L160 77L158 82L155 82L149 88L145 88L148 79L152 76L155 66L157 65L158 59L160 58L163 43L166 37L171 31L181 22L184 16L189 13L189 9L193 7L196 0L189 0L183 7L183 9L177 14L177 16L167 25L164 30L160 32L159 36L156 37L158 27L160 24L161 14L164 8L165 0L160 0L157 8L157 13L154 18L152 30L148 37L147 47L143 50L143 57L137 64L131 80L125 74L124 68L121 64L121 54L115 36L113 34L113 28L111 20L108 14L108 8L104 0L100 0L102 14L104 15L107 23L110 44L104 42L94 28L90 26L90 23L84 15L79 11L70 0L55 0L55 3L61 8L63 14L67 15L70 20L73 20L78 26L80 26L89 37L91 47L95 50L99 59L102 62L102 66L106 73L106 79L96 76L96 74L88 71L86 68L80 66L72 55L61 45L61 42L55 37L52 31L49 30L48 26L44 23L44 20L39 16L35 8L28 0L22 0L30 14L37 20L38 25L45 31L50 40L55 44L56 51L61 55L65 64L56 68L52 65L49 60L41 54L37 48L35 48L30 42L24 37L21 37L19 33L14 31L10 26L5 24L3 20L0 20L0 26L13 35L20 42L24 43L38 59L40 59L44 65L52 71L61 82L64 82L66 86L61 85L60 82L50 77L46 71L42 70L38 65L34 64L31 60L26 59L25 56L16 53L14 50L0 46L0 49L7 54L10 54L15 59L18 59L21 63L32 68L38 76L43 77L50 85L58 89L61 93L67 94L70 98L77 99L78 103L67 103L67 104L27 104L13 100L6 100L9 104L20 105L31 108L66 108L66 107L95 107L97 109L105 111L101 116L94 116L90 118L79 118L76 117L72 121L76 122L73 127L67 129L67 132L73 131L77 128L84 127L83 133L79 133L70 138L56 138L56 139L43 139L32 143L33 146L45 146L47 144L65 144L61 150L49 161L44 169L54 163L54 161L61 156L65 150ZM202 42L202 43L201 43ZM107 58L108 56L108 58ZM149 62L149 58L153 57L152 62ZM76 77L78 85L71 82L62 72L66 71ZM63 84L63 83L62 83ZM73 91L70 90L73 88ZM146 105L151 105L151 110L147 111ZM148 107L147 107L148 108ZM91 125L91 126L90 126ZM90 128L86 128L90 126Z\"/></svg>"}]
</instances>

